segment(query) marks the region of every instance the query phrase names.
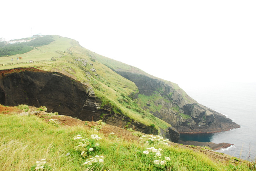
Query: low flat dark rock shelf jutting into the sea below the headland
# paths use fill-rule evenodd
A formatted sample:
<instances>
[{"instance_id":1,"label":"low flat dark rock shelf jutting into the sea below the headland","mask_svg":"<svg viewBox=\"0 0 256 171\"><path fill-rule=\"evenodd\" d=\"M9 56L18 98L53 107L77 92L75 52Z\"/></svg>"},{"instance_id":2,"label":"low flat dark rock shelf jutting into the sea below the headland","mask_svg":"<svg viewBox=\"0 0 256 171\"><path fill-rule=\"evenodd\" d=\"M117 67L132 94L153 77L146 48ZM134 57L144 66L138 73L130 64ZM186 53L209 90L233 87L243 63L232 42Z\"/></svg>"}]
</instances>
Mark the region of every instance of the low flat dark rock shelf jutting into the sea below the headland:
<instances>
[{"instance_id":1,"label":"low flat dark rock shelf jutting into the sea below the headland","mask_svg":"<svg viewBox=\"0 0 256 171\"><path fill-rule=\"evenodd\" d=\"M219 149L223 149L223 148L228 148L231 145L231 143L213 143L213 142L196 142L196 141L178 141L178 143L183 144L183 145L194 145L194 146L201 146L201 147L210 147L212 150L216 151Z\"/></svg>"}]
</instances>

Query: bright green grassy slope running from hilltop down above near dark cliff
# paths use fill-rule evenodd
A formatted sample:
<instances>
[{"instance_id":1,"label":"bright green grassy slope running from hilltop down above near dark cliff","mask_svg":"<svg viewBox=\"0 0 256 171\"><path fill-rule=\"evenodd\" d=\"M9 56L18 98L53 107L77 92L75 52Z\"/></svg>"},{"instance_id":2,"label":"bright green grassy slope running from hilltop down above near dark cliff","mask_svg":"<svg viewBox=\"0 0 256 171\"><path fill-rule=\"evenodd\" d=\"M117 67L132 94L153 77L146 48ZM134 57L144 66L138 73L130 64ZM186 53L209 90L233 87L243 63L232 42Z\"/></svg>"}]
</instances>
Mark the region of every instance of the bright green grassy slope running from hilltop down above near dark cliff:
<instances>
[{"instance_id":1,"label":"bright green grassy slope running from hilltop down above near dark cliff","mask_svg":"<svg viewBox=\"0 0 256 171\"><path fill-rule=\"evenodd\" d=\"M103 102L102 105L108 104L112 106L116 113L124 114L148 126L154 124L156 129L166 129L170 126L170 124L140 108L136 101L132 100L132 96L138 93L136 85L116 74L100 61L96 61L94 59L96 53L81 47L79 43L73 39L58 35L53 36L53 38L55 41L49 45L34 48L28 53L1 57L0 64L11 63L11 59L16 59L17 57L23 58L23 60L19 61L37 61L51 58L56 59L56 61L7 65L1 66L0 69L38 67L44 71L62 72L81 83L92 86L96 96ZM86 61L86 66L83 64L84 61ZM93 69L95 69L96 72L91 71Z\"/></svg>"}]
</instances>

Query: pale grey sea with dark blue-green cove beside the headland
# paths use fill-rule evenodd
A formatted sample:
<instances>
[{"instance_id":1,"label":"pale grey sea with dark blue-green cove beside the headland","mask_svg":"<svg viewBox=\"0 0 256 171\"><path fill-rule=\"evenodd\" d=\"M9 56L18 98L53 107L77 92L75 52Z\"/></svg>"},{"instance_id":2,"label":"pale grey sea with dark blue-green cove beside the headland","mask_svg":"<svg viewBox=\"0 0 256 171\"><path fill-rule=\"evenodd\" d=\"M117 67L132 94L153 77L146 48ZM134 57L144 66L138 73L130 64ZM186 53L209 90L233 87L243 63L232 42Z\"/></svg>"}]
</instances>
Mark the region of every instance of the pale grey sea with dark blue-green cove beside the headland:
<instances>
[{"instance_id":1,"label":"pale grey sea with dark blue-green cove beside the headland","mask_svg":"<svg viewBox=\"0 0 256 171\"><path fill-rule=\"evenodd\" d=\"M218 152L246 160L256 159L256 83L182 84L198 103L220 112L241 128L213 134L181 134L183 141L234 144Z\"/></svg>"}]
</instances>

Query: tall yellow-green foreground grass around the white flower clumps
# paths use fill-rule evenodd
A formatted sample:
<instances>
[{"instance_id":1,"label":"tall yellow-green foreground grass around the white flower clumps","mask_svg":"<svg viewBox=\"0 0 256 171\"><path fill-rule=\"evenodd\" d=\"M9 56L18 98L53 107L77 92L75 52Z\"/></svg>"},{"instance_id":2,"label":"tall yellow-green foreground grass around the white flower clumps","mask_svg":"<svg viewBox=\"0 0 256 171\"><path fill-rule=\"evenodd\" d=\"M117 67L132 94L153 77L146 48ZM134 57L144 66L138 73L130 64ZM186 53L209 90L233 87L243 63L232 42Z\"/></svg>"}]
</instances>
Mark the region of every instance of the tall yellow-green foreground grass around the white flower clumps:
<instances>
[{"instance_id":1,"label":"tall yellow-green foreground grass around the white flower clumps","mask_svg":"<svg viewBox=\"0 0 256 171\"><path fill-rule=\"evenodd\" d=\"M189 149L127 142L120 138L104 137L97 131L85 130L82 126L56 128L36 116L0 115L0 120L2 171L28 171L36 165L36 161L42 159L49 165L49 170L55 171L249 170L245 165L214 163L206 155ZM99 140L100 146L95 153L82 157L74 149L78 145L74 137L81 135L90 139L91 134L102 138ZM151 146L163 149L163 156L170 157L164 169L146 166L150 161L143 151ZM104 163L95 167L83 165L86 159L95 155L104 156Z\"/></svg>"}]
</instances>

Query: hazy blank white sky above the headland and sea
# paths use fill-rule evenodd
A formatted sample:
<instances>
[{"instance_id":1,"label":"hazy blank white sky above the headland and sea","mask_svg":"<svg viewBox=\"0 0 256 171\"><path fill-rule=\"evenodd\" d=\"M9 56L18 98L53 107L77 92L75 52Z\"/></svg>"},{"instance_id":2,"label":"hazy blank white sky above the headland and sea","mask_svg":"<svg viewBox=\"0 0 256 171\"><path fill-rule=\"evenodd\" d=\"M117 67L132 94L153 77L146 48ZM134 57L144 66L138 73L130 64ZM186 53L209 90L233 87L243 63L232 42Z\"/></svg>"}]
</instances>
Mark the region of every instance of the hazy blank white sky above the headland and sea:
<instances>
[{"instance_id":1,"label":"hazy blank white sky above the headland and sea","mask_svg":"<svg viewBox=\"0 0 256 171\"><path fill-rule=\"evenodd\" d=\"M61 35L178 83L256 82L255 0L5 0L0 37Z\"/></svg>"}]
</instances>

